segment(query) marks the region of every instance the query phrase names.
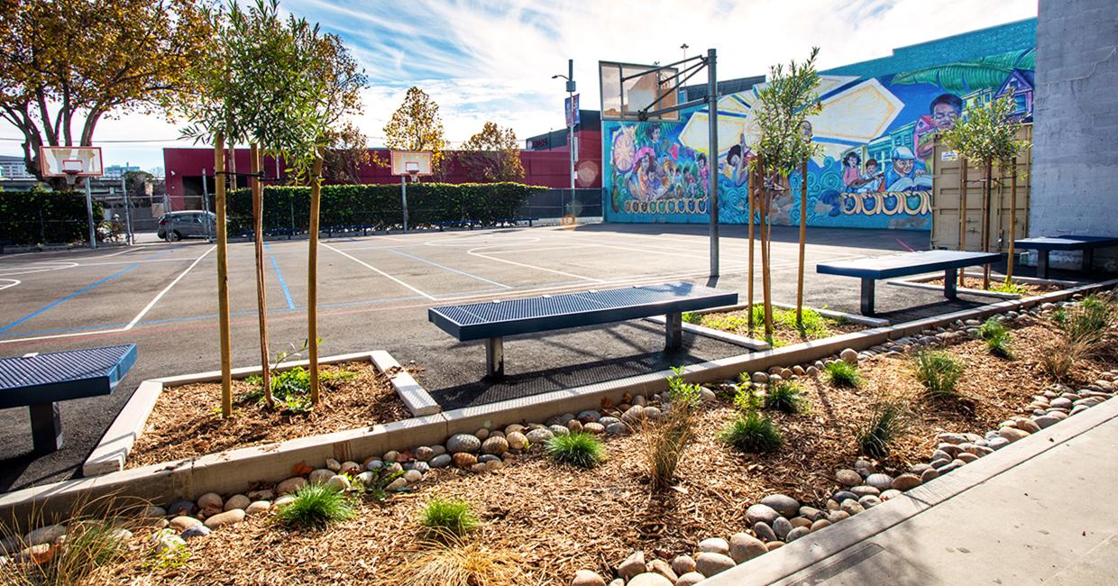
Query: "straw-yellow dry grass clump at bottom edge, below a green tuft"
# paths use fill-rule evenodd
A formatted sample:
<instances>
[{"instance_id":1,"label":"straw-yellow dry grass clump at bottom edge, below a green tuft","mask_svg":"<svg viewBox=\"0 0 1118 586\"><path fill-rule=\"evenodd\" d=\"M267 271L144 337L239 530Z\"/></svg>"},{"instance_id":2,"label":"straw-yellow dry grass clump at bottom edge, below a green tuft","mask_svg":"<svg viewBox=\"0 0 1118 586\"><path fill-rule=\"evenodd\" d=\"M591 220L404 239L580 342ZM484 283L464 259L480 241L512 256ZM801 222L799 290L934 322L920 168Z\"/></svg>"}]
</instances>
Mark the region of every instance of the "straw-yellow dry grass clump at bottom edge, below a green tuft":
<instances>
[{"instance_id":1,"label":"straw-yellow dry grass clump at bottom edge, below a green tuft","mask_svg":"<svg viewBox=\"0 0 1118 586\"><path fill-rule=\"evenodd\" d=\"M408 586L514 586L523 584L522 560L512 548L490 549L448 539L385 567L385 584Z\"/></svg>"}]
</instances>

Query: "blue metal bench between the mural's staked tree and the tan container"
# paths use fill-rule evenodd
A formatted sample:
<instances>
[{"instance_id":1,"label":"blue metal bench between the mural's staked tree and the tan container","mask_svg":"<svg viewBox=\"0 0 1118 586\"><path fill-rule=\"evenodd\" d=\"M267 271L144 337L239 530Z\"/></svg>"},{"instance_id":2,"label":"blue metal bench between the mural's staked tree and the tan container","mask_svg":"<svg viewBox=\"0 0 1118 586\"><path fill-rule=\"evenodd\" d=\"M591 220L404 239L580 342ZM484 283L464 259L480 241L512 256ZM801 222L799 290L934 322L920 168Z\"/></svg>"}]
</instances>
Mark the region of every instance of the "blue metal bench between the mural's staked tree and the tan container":
<instances>
[{"instance_id":1,"label":"blue metal bench between the mural's staked tree and the tan container","mask_svg":"<svg viewBox=\"0 0 1118 586\"><path fill-rule=\"evenodd\" d=\"M919 275L944 271L944 296L956 299L958 270L985 265L1001 259L998 253L966 253L958 251L922 251L889 256L855 258L815 265L824 275L854 276L862 280L862 314L873 315L874 284L879 278Z\"/></svg>"}]
</instances>

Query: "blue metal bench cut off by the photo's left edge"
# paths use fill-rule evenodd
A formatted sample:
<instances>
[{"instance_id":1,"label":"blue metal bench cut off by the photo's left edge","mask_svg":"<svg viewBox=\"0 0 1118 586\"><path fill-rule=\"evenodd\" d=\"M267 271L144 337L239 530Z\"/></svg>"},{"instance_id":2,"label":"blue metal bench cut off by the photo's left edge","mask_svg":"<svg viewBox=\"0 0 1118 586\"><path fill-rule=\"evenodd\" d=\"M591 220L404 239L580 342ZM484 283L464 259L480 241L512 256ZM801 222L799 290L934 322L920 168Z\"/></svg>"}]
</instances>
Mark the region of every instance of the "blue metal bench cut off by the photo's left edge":
<instances>
[{"instance_id":1,"label":"blue metal bench cut off by the photo's left edge","mask_svg":"<svg viewBox=\"0 0 1118 586\"><path fill-rule=\"evenodd\" d=\"M0 359L0 408L29 407L37 453L63 445L59 400L108 395L136 361L135 344Z\"/></svg>"}]
</instances>

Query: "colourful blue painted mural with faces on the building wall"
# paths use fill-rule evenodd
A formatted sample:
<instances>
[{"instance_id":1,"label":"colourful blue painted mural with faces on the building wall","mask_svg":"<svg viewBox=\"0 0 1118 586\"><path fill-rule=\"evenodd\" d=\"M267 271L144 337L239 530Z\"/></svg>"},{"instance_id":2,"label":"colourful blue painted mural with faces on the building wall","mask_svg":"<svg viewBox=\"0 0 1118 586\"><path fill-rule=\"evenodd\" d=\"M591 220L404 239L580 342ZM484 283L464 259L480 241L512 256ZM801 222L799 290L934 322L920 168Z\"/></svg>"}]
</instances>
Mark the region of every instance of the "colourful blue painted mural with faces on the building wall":
<instances>
[{"instance_id":1,"label":"colourful blue painted mural with faces on the building wall","mask_svg":"<svg viewBox=\"0 0 1118 586\"><path fill-rule=\"evenodd\" d=\"M822 146L808 162L811 226L929 229L934 150L940 133L1002 96L1032 120L1034 50L947 63L881 77L823 75L823 112L812 119ZM709 108L679 122L603 122L607 221L708 223L709 179L719 186L719 220L748 221L746 164L756 129L757 89L718 102L719 145L708 144ZM799 221L799 173L777 197L771 220Z\"/></svg>"}]
</instances>

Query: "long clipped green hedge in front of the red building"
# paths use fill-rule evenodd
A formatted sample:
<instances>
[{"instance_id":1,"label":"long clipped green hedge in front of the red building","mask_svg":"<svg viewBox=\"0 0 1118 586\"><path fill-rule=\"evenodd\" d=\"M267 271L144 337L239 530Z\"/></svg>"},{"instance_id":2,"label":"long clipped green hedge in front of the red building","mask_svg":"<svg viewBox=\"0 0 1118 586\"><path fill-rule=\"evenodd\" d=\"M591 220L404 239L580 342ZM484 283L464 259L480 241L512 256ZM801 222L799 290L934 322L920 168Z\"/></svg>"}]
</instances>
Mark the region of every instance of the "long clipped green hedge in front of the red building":
<instances>
[{"instance_id":1,"label":"long clipped green hedge in front of the red building","mask_svg":"<svg viewBox=\"0 0 1118 586\"><path fill-rule=\"evenodd\" d=\"M521 183L408 183L408 225L438 221L492 221L511 218L543 187ZM264 229L306 230L310 225L311 189L265 187ZM229 229L252 230L253 196L248 189L233 191L228 204ZM388 228L404 223L399 185L323 186L319 224Z\"/></svg>"}]
</instances>

